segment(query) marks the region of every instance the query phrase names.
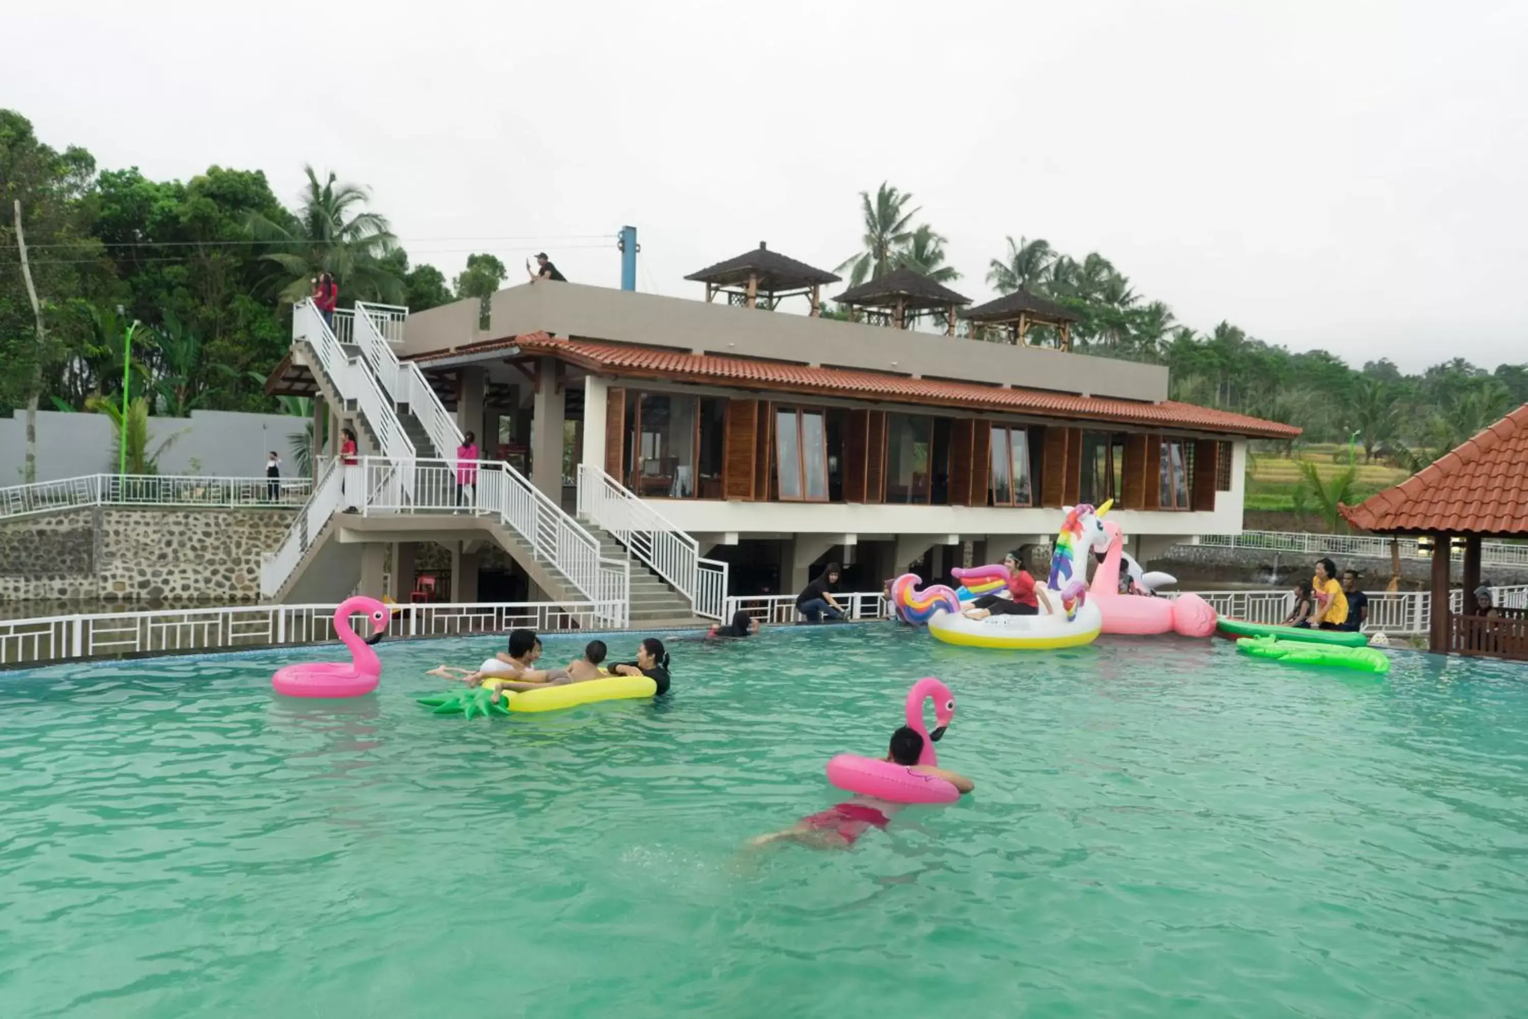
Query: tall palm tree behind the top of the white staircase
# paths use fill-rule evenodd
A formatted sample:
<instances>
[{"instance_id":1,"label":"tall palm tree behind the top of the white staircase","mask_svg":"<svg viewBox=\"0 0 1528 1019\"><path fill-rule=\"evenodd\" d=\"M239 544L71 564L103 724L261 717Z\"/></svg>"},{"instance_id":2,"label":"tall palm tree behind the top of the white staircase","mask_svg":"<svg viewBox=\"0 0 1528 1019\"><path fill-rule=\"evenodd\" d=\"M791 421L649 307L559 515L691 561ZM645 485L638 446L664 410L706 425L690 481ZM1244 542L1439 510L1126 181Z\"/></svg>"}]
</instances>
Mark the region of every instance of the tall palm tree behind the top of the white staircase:
<instances>
[{"instance_id":1,"label":"tall palm tree behind the top of the white staircase","mask_svg":"<svg viewBox=\"0 0 1528 1019\"><path fill-rule=\"evenodd\" d=\"M312 293L313 277L329 272L350 296L402 301L403 281L377 264L397 246L393 228L380 212L361 209L370 202L370 191L354 183L336 183L333 173L319 183L312 167L303 167L303 171L307 188L295 217L287 223L274 223L260 212L251 212L246 223L255 240L274 246L261 258L275 264L270 284L280 299L296 304Z\"/></svg>"}]
</instances>

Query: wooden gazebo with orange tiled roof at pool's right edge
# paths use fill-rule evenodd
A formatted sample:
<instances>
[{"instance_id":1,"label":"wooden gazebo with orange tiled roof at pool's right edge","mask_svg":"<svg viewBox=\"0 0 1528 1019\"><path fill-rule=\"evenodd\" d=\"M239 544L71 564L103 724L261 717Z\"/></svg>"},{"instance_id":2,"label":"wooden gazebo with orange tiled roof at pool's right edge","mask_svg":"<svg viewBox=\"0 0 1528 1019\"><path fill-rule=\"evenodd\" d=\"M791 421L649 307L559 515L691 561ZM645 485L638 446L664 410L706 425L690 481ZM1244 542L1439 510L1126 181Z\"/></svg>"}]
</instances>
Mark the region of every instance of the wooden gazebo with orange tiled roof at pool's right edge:
<instances>
[{"instance_id":1,"label":"wooden gazebo with orange tiled roof at pool's right edge","mask_svg":"<svg viewBox=\"0 0 1528 1019\"><path fill-rule=\"evenodd\" d=\"M1528 403L1358 506L1340 506L1354 527L1432 541L1432 623L1427 646L1528 662L1528 608L1476 605L1481 539L1528 538ZM1449 608L1449 556L1464 552L1461 613Z\"/></svg>"}]
</instances>

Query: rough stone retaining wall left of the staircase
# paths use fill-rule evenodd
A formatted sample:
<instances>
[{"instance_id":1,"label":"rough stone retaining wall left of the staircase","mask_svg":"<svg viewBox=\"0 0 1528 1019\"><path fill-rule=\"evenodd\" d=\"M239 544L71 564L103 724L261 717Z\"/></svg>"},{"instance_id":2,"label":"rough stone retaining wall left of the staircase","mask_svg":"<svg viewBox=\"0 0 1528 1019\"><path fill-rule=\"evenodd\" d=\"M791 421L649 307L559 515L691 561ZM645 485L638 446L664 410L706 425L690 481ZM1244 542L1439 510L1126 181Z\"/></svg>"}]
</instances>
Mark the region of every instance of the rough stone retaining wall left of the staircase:
<instances>
[{"instance_id":1,"label":"rough stone retaining wall left of the staircase","mask_svg":"<svg viewBox=\"0 0 1528 1019\"><path fill-rule=\"evenodd\" d=\"M292 510L86 507L0 521L0 600L260 600Z\"/></svg>"}]
</instances>

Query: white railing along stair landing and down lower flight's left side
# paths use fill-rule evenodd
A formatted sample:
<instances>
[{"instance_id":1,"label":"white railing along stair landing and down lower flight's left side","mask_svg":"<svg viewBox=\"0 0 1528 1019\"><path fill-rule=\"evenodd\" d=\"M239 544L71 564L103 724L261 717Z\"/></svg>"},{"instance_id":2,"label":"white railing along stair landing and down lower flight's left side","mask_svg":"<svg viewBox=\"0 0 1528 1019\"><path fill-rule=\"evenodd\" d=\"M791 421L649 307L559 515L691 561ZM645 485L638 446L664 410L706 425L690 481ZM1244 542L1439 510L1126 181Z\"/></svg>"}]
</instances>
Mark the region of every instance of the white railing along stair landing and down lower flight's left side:
<instances>
[{"instance_id":1,"label":"white railing along stair landing and down lower flight's left side","mask_svg":"<svg viewBox=\"0 0 1528 1019\"><path fill-rule=\"evenodd\" d=\"M631 596L631 559L607 559L599 539L568 516L526 475L501 460L408 460L362 457L367 516L388 513L481 513L498 519L530 553L565 576L591 602L620 603L625 625ZM471 478L463 484L463 478Z\"/></svg>"}]
</instances>

